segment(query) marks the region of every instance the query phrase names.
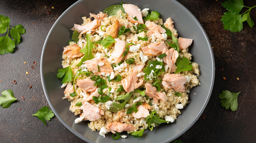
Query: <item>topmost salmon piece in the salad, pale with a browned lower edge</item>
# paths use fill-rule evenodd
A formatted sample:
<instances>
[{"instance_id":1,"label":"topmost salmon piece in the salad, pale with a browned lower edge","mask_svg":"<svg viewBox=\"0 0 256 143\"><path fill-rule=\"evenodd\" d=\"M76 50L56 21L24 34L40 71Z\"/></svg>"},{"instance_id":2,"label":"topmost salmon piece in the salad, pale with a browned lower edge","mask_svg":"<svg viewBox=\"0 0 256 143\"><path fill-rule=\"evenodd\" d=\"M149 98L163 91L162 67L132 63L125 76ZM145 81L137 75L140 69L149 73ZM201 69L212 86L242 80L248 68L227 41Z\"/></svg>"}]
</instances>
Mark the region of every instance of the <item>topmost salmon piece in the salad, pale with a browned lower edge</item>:
<instances>
[{"instance_id":1,"label":"topmost salmon piece in the salad, pale with a browned lower edge","mask_svg":"<svg viewBox=\"0 0 256 143\"><path fill-rule=\"evenodd\" d=\"M123 4L124 11L127 13L127 20L133 24L144 24L142 19L141 11L139 10L139 7L133 5L133 4ZM138 20L134 20L134 17Z\"/></svg>"}]
</instances>

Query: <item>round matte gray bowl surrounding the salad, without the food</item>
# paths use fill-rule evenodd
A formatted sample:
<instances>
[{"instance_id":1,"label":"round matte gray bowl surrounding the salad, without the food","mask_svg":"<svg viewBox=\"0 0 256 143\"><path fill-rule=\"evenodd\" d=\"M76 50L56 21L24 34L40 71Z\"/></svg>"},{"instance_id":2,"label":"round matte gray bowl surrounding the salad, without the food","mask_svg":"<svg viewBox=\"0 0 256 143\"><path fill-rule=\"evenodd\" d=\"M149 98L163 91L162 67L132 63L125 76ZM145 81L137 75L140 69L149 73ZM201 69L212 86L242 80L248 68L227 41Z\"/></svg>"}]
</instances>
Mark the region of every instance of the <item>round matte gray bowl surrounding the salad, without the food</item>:
<instances>
[{"instance_id":1,"label":"round matte gray bowl surrounding the salad, without the food","mask_svg":"<svg viewBox=\"0 0 256 143\"><path fill-rule=\"evenodd\" d=\"M212 47L202 25L191 12L175 0L124 0L124 3L135 4L141 9L150 8L158 11L164 21L170 17L180 37L193 39L189 52L193 55L192 61L199 64L201 71L199 79L202 85L191 90L189 94L191 102L181 110L182 114L174 123L161 124L152 132L145 130L140 138L128 136L126 139L113 140L112 134L107 134L105 138L99 135L99 132L93 132L88 127L87 121L75 124L74 120L77 116L69 111L70 102L62 99L64 89L60 88L61 80L56 78L56 74L57 70L62 68L63 47L71 40L70 28L74 23L81 24L83 22L81 17L89 17L89 12L98 13L120 3L120 0L79 0L53 24L45 40L41 57L41 79L46 98L55 116L64 126L87 142L170 142L187 131L203 113L212 92L215 75Z\"/></svg>"}]
</instances>

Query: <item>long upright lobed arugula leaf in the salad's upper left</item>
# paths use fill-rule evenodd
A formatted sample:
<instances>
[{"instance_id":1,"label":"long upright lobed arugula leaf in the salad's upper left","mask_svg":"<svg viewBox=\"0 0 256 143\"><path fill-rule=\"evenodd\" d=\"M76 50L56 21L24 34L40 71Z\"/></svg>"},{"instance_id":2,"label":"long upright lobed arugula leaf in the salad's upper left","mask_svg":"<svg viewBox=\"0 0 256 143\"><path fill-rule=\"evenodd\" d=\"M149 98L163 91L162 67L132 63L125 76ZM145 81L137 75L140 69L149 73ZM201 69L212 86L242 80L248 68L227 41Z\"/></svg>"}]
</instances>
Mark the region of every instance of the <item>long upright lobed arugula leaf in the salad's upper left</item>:
<instances>
[{"instance_id":1,"label":"long upright lobed arugula leaf in the salad's upper left","mask_svg":"<svg viewBox=\"0 0 256 143\"><path fill-rule=\"evenodd\" d=\"M92 54L92 49L95 48L95 45L92 43L89 34L86 34L86 41L86 45L80 50L80 52L84 53L84 56L81 58L81 61L76 66L81 66L84 61L94 58Z\"/></svg>"}]
</instances>

